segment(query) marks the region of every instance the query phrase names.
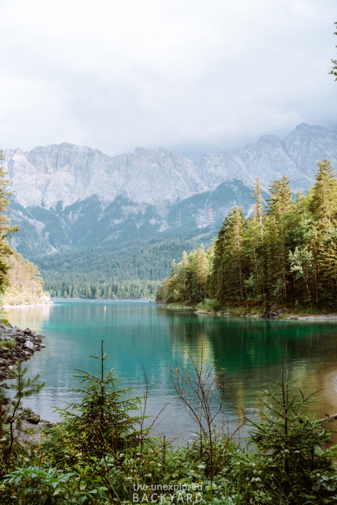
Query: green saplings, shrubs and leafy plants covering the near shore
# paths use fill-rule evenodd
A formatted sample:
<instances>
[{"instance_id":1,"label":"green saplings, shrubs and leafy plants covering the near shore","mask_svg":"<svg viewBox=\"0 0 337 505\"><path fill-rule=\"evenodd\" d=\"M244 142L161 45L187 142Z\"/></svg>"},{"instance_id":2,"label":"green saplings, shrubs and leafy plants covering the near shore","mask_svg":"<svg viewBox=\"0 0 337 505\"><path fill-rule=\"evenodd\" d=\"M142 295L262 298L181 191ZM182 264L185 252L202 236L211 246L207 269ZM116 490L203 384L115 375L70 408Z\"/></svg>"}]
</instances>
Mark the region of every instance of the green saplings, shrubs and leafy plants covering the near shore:
<instances>
[{"instance_id":1,"label":"green saplings, shrubs and leafy plants covering the near shore","mask_svg":"<svg viewBox=\"0 0 337 505\"><path fill-rule=\"evenodd\" d=\"M20 422L21 399L41 385L38 377L25 378L21 364L13 370L16 394L0 427L4 505L336 502L337 447L327 449L329 433L303 413L312 396L294 395L296 381L283 376L273 381L258 412L251 419L243 413L239 425L249 427L247 449L224 435L221 370L202 355L198 361L189 356L187 366L171 369L171 378L197 436L177 447L165 436L151 436L147 393L132 398L128 389L119 388L107 359L102 345L98 374L79 371L79 401L59 410L62 422L26 445L16 439L14 426Z\"/></svg>"}]
</instances>

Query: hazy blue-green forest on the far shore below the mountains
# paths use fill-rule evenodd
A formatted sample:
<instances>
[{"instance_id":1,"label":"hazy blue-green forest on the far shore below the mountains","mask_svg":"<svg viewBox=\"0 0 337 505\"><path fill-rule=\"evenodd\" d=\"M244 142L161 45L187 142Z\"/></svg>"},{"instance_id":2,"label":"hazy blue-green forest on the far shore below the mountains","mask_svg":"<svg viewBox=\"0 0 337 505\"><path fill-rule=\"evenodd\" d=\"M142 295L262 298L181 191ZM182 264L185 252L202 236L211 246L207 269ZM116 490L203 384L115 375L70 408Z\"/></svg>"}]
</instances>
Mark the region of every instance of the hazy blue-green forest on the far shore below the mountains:
<instances>
[{"instance_id":1,"label":"hazy blue-green forest on the far shore below the mountains","mask_svg":"<svg viewBox=\"0 0 337 505\"><path fill-rule=\"evenodd\" d=\"M170 272L172 256L199 246L201 240L210 244L211 235L193 230L187 236L136 242L122 249L57 252L36 263L52 297L154 298L160 280Z\"/></svg>"}]
</instances>

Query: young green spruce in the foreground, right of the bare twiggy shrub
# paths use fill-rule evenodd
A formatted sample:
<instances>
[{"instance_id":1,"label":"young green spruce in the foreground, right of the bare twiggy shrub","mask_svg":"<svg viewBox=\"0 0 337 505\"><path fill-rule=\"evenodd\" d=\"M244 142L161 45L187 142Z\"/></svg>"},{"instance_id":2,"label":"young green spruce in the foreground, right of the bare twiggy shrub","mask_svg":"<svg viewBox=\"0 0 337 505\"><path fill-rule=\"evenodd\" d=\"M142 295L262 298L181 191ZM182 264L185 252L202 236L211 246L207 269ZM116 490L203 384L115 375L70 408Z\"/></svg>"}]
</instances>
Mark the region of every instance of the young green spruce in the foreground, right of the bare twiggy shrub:
<instances>
[{"instance_id":1,"label":"young green spruce in the foreground, right of the bare twiggy shrub","mask_svg":"<svg viewBox=\"0 0 337 505\"><path fill-rule=\"evenodd\" d=\"M281 380L269 379L273 386L262 393L259 404L261 420L253 418L249 421L249 442L258 449L255 461L263 469L261 479L275 499L282 497L293 505L316 503L316 491L320 488L322 476L334 474L337 446L323 449L330 434L322 428L321 422L309 419L303 413L315 393L305 397L301 390L294 390L298 379L284 378L283 356L281 374ZM331 497L331 493L327 492L328 496ZM333 501L327 499L326 502Z\"/></svg>"}]
</instances>

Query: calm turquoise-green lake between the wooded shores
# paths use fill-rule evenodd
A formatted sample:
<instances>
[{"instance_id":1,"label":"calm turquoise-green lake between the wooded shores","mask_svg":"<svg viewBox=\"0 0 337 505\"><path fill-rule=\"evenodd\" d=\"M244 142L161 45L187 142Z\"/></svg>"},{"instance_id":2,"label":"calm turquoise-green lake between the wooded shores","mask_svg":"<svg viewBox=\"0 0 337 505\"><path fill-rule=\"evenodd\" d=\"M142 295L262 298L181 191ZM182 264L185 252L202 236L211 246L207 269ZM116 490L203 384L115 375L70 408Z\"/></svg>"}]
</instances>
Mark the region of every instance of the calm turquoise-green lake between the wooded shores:
<instances>
[{"instance_id":1,"label":"calm turquoise-green lake between the wooded shores","mask_svg":"<svg viewBox=\"0 0 337 505\"><path fill-rule=\"evenodd\" d=\"M106 311L104 310L106 307ZM26 362L29 375L40 374L45 387L26 401L41 418L57 421L51 406L65 407L76 396L74 369L95 372L101 340L113 354L111 368L121 379L120 386L145 390L146 371L148 414L156 415L170 401L155 433L181 438L195 425L176 398L169 365L188 363L188 352L226 369L232 383L225 396L224 410L229 430L233 429L239 406L251 412L259 388L270 377L279 379L281 354L289 378L298 378L304 394L321 389L311 407L317 417L337 412L337 324L227 318L195 314L186 309L165 309L139 300L55 300L55 305L8 309L9 320L45 335L45 349ZM332 427L332 426L331 426Z\"/></svg>"}]
</instances>

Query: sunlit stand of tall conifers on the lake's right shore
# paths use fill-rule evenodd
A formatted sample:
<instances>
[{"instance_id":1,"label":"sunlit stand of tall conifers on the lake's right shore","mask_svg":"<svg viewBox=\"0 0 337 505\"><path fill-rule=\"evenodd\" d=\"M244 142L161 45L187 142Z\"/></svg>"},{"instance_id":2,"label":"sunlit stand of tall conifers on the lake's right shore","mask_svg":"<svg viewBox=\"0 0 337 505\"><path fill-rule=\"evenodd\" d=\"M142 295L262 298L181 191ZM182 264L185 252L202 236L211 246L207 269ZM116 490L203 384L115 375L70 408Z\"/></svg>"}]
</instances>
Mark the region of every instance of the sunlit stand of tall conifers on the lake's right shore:
<instances>
[{"instance_id":1,"label":"sunlit stand of tall conifers on the lake's right shore","mask_svg":"<svg viewBox=\"0 0 337 505\"><path fill-rule=\"evenodd\" d=\"M235 206L207 252L184 251L159 285L157 300L336 309L337 178L328 160L317 165L314 186L296 198L283 176L269 186L264 203L257 180L251 217Z\"/></svg>"}]
</instances>

